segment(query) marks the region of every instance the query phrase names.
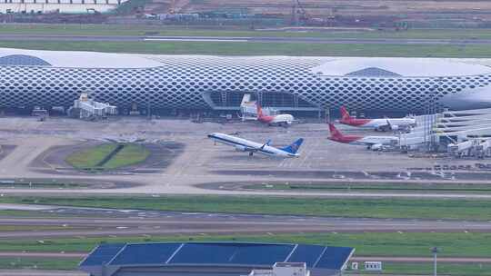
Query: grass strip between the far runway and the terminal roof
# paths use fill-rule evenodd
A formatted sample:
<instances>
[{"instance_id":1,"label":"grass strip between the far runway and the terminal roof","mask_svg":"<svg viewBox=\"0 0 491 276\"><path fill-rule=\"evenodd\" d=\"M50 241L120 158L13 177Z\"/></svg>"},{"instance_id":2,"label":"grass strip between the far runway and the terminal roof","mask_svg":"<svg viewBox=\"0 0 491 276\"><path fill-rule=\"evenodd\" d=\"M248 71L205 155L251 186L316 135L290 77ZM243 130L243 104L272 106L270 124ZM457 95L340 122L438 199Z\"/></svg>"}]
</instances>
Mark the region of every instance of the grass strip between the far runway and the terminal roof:
<instances>
[{"instance_id":1,"label":"grass strip between the far runway and the terminal roof","mask_svg":"<svg viewBox=\"0 0 491 276\"><path fill-rule=\"evenodd\" d=\"M142 54L491 57L488 45L2 41L0 47Z\"/></svg>"}]
</instances>

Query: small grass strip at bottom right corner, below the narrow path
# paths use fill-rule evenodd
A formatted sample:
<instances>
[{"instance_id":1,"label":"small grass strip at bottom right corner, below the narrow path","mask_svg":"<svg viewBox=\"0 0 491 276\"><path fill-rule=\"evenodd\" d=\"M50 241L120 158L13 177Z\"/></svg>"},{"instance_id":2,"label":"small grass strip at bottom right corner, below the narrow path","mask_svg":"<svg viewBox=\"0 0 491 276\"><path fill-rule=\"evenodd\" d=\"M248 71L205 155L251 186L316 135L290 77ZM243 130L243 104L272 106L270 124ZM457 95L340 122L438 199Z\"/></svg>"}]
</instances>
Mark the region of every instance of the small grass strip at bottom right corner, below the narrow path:
<instances>
[{"instance_id":1,"label":"small grass strip at bottom right corner, below the narrow path","mask_svg":"<svg viewBox=\"0 0 491 276\"><path fill-rule=\"evenodd\" d=\"M360 263L359 265L361 265ZM455 276L489 276L491 275L491 264L489 263L446 263L439 262L437 265L439 275ZM383 274L392 275L432 275L433 263L397 263L384 262ZM369 271L348 271L345 275L378 274Z\"/></svg>"}]
</instances>

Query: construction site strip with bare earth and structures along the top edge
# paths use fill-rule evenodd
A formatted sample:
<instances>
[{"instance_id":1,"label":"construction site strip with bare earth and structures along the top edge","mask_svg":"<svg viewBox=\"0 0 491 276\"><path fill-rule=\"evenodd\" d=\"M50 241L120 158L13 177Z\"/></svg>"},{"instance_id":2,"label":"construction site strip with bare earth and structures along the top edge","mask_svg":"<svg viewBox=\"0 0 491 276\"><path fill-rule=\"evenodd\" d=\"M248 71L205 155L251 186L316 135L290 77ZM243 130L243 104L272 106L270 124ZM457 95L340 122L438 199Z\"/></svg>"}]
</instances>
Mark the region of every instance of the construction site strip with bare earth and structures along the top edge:
<instances>
[{"instance_id":1,"label":"construction site strip with bare earth and structures along the top edge","mask_svg":"<svg viewBox=\"0 0 491 276\"><path fill-rule=\"evenodd\" d=\"M367 27L488 27L486 1L8 0L0 20L17 23Z\"/></svg>"}]
</instances>

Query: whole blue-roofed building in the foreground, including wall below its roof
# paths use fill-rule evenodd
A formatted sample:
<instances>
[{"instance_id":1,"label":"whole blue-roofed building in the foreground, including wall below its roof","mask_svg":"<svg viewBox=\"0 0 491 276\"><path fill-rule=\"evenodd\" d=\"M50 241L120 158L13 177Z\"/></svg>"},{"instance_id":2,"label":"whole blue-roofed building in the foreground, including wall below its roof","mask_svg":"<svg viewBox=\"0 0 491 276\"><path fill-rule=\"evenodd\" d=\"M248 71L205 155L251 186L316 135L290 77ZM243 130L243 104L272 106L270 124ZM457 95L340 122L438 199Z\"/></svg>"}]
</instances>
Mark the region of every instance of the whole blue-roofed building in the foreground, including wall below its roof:
<instances>
[{"instance_id":1,"label":"whole blue-roofed building in the foreground, including wall below its roof","mask_svg":"<svg viewBox=\"0 0 491 276\"><path fill-rule=\"evenodd\" d=\"M105 243L80 270L92 276L239 276L276 262L305 262L311 276L340 275L354 248L290 243Z\"/></svg>"}]
</instances>

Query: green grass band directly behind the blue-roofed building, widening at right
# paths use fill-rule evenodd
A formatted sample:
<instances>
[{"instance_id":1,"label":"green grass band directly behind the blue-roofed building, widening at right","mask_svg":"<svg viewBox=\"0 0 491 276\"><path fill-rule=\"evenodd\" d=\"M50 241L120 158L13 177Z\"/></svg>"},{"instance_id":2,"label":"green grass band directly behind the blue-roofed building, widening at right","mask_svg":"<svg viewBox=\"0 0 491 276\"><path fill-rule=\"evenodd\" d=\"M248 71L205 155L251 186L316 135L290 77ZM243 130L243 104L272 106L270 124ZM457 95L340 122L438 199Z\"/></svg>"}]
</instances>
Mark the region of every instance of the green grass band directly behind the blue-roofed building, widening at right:
<instances>
[{"instance_id":1,"label":"green grass band directly behind the blue-roofed building, widening at right","mask_svg":"<svg viewBox=\"0 0 491 276\"><path fill-rule=\"evenodd\" d=\"M362 233L291 233L256 235L169 235L103 238L46 238L9 240L0 243L0 251L91 251L101 242L286 242L350 246L356 256L430 257L430 248L441 248L440 256L489 257L491 233L456 232L362 232Z\"/></svg>"}]
</instances>

